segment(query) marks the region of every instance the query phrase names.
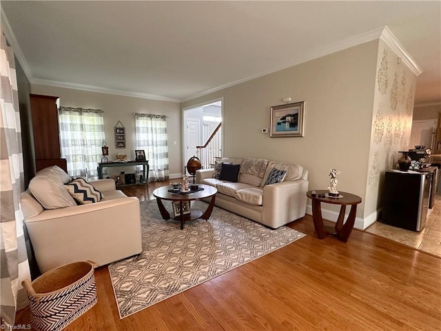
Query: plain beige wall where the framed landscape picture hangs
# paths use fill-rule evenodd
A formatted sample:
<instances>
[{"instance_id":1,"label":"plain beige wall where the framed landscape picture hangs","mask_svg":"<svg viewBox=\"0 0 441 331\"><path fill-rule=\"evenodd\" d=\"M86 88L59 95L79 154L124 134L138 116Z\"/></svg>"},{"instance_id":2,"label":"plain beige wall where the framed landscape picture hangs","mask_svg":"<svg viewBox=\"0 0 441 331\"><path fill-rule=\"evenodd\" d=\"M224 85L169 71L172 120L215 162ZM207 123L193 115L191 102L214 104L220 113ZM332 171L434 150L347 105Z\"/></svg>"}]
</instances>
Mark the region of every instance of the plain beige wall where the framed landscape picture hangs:
<instances>
[{"instance_id":1,"label":"plain beige wall where the framed landscape picture hangs","mask_svg":"<svg viewBox=\"0 0 441 331\"><path fill-rule=\"evenodd\" d=\"M224 155L298 163L309 188L326 189L329 170L340 170L338 190L362 197L364 215L378 41L268 74L204 97L183 108L224 98ZM270 108L282 99L306 101L305 137L270 138ZM328 205L327 205L328 207ZM329 205L329 210L336 208Z\"/></svg>"}]
</instances>

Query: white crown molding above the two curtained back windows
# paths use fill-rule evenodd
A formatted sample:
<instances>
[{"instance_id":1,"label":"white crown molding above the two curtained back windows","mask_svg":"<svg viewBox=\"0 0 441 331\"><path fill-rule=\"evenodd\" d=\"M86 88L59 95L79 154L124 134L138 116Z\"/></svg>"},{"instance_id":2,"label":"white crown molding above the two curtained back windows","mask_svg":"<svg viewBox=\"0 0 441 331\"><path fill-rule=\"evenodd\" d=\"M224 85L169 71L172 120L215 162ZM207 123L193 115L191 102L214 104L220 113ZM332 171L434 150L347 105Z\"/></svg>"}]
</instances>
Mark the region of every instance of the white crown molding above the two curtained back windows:
<instances>
[{"instance_id":1,"label":"white crown molding above the two curtained back windows","mask_svg":"<svg viewBox=\"0 0 441 331\"><path fill-rule=\"evenodd\" d=\"M122 95L124 97L134 97L134 98L141 98L141 99L178 102L178 103L181 102L181 100L179 100L179 99L162 97L161 95L145 94L145 93L139 93L139 92L129 92L129 91L122 91L122 90L112 90L109 88L99 88L96 86L88 86L88 85L81 85L81 84L74 84L74 83L65 83L63 81L50 81L48 79L35 79L35 78L33 78L33 79L30 79L30 83L44 85L44 86L52 86L55 88L71 88L72 90L116 94L116 95Z\"/></svg>"}]
</instances>

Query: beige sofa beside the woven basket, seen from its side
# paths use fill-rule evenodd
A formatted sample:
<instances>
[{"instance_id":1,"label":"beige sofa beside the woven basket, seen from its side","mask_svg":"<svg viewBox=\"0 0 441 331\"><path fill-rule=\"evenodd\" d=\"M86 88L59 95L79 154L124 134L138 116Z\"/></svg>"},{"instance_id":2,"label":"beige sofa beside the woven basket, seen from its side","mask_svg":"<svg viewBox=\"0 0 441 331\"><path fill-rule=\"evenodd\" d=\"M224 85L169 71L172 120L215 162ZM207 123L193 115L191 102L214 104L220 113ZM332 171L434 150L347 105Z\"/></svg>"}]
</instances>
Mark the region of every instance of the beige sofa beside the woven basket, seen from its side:
<instances>
[{"instance_id":1,"label":"beige sofa beside the woven basket, seen from its side","mask_svg":"<svg viewBox=\"0 0 441 331\"><path fill-rule=\"evenodd\" d=\"M139 199L116 190L112 179L90 181L101 201L77 205L70 177L56 165L37 172L21 195L21 210L41 272L74 261L97 265L142 250Z\"/></svg>"}]
</instances>

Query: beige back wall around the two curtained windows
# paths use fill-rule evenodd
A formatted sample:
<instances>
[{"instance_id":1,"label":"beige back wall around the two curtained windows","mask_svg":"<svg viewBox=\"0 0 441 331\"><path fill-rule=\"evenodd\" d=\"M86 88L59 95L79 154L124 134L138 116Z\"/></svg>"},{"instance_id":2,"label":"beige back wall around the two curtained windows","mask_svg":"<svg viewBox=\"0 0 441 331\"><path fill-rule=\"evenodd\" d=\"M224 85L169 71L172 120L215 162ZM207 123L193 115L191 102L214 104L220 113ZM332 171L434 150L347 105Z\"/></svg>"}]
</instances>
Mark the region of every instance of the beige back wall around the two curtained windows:
<instances>
[{"instance_id":1,"label":"beige back wall around the two curtained windows","mask_svg":"<svg viewBox=\"0 0 441 331\"><path fill-rule=\"evenodd\" d=\"M125 97L115 94L88 92L69 88L56 88L32 84L32 93L60 97L60 106L93 108L104 111L105 141L109 146L109 159L114 160L116 153L127 154L128 159L134 159L135 141L135 112L161 114L167 118L168 157L170 162L170 177L180 177L181 169L181 106L170 101L156 101L135 97ZM121 121L127 132L127 148L114 148L114 126ZM174 144L176 141L176 145ZM124 168L110 168L110 175ZM127 173L127 171L125 171Z\"/></svg>"}]
</instances>

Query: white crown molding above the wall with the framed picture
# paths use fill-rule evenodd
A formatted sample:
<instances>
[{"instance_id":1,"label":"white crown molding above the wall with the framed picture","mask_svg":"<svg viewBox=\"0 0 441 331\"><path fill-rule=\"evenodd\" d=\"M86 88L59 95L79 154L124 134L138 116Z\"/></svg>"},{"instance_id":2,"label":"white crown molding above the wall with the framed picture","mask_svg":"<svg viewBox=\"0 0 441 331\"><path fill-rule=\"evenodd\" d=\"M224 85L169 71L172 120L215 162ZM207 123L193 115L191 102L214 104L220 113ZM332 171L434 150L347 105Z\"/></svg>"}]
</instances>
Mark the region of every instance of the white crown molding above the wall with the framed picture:
<instances>
[{"instance_id":1,"label":"white crown molding above the wall with the framed picture","mask_svg":"<svg viewBox=\"0 0 441 331\"><path fill-rule=\"evenodd\" d=\"M191 97L186 97L185 99L182 99L181 101L184 102L184 101L189 101L189 100L192 100L192 99L196 99L198 97L203 97L204 95L207 95L209 93L217 92L217 91L223 90L225 88L230 88L230 87L236 86L236 85L238 85L240 83L245 83L245 81L251 81L252 79L263 77L263 76L265 76L267 74L272 74L273 72L278 72L280 70L285 70L287 68L291 68L291 67L297 66L297 65L299 65L301 63L305 63L307 61L318 59L319 57L324 57L326 55L333 54L335 52L339 52L340 50L345 50L345 49L351 48L353 46L361 45L362 43L367 43L369 41L373 41L373 40L379 39L381 34L382 34L382 32L383 32L383 30L384 30L384 27L378 28L378 29L375 29L375 30L371 30L371 31L368 31L368 32L365 32L365 33L362 33L362 34L358 34L356 37L351 37L349 39L338 41L337 43L333 43L332 45L327 46L325 48L320 48L320 50L316 50L316 52L312 52L311 54L309 54L308 57L304 57L304 58L302 58L300 60L297 60L297 61L289 64L289 66L283 66L283 67L276 68L276 69L273 69L273 70L267 70L267 71L259 72L258 74L254 74L254 75L246 77L244 79L239 79L238 81L234 81L232 83L227 83L225 85L218 86L217 88L212 88L210 90L205 90L205 91L200 92L198 94L194 94Z\"/></svg>"}]
</instances>

